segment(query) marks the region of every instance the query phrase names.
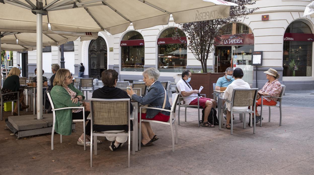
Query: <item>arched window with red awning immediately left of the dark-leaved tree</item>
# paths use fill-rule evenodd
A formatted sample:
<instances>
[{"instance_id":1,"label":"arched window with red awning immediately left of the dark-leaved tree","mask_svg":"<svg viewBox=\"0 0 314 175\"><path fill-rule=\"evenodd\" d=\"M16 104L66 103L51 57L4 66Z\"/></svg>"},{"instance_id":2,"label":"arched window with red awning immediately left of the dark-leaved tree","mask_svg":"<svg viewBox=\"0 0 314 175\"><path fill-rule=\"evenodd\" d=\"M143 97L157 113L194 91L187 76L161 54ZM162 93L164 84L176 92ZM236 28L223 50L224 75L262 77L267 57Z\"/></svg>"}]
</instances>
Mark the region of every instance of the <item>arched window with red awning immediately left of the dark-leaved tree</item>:
<instances>
[{"instance_id":1,"label":"arched window with red awning immediately left of the dark-leaved tree","mask_svg":"<svg viewBox=\"0 0 314 175\"><path fill-rule=\"evenodd\" d=\"M178 33L180 39L172 39ZM179 28L167 28L159 36L158 69L160 72L182 72L187 66L187 37Z\"/></svg>"}]
</instances>

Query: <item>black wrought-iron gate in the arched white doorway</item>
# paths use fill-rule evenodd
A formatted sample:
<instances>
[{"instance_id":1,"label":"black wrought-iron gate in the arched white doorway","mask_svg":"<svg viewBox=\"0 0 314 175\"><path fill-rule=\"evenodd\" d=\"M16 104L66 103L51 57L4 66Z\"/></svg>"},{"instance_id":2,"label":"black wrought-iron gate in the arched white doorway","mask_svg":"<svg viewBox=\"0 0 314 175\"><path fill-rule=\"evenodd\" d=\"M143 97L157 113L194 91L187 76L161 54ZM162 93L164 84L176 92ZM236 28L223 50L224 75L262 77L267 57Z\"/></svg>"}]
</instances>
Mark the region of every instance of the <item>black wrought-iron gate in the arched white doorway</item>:
<instances>
[{"instance_id":1,"label":"black wrought-iron gate in the arched white doorway","mask_svg":"<svg viewBox=\"0 0 314 175\"><path fill-rule=\"evenodd\" d=\"M102 37L90 42L88 57L89 77L100 79L101 72L107 69L107 44Z\"/></svg>"}]
</instances>

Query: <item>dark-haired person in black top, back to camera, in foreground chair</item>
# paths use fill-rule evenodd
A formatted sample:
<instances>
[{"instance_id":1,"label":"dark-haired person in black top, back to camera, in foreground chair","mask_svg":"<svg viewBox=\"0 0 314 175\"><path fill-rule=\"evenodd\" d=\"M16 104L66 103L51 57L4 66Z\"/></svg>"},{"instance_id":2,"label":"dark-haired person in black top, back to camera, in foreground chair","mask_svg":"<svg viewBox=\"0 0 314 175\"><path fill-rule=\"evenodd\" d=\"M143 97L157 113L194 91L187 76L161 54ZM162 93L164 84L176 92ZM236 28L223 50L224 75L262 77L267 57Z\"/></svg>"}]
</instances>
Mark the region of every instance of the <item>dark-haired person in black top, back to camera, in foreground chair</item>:
<instances>
[{"instance_id":1,"label":"dark-haired person in black top, back to camera, in foreground chair","mask_svg":"<svg viewBox=\"0 0 314 175\"><path fill-rule=\"evenodd\" d=\"M101 73L101 81L104 84L102 88L96 89L93 92L92 98L102 98L102 99L131 99L127 92L116 87L118 80L118 73L113 69L104 70ZM133 112L133 106L130 103L130 112ZM133 131L133 122L130 121L131 131ZM97 132L107 132L107 133L120 133L128 131L127 125L93 125L93 131ZM90 128L86 130L86 134L90 135ZM127 136L106 136L107 140L111 141L109 146L111 151L123 146L127 142Z\"/></svg>"}]
</instances>

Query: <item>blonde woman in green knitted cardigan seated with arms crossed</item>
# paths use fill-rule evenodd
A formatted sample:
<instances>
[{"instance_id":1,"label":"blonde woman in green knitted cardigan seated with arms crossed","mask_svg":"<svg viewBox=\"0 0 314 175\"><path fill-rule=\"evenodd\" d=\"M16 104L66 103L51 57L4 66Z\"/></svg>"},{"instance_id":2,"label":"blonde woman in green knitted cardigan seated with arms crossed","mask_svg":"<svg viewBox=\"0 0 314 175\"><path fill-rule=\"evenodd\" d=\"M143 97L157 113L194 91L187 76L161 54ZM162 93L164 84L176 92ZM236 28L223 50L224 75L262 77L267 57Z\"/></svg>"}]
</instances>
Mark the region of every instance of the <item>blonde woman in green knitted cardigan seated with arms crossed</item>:
<instances>
[{"instance_id":1,"label":"blonde woman in green knitted cardigan seated with arms crossed","mask_svg":"<svg viewBox=\"0 0 314 175\"><path fill-rule=\"evenodd\" d=\"M50 95L54 107L78 107L80 100L85 97L81 91L72 85L72 75L68 69L59 69L53 80L53 88ZM83 103L84 106L89 106L89 103ZM56 111L55 131L62 135L71 135L72 120L83 119L83 112L85 113L85 120L89 111L82 111L82 109L64 109ZM90 124L86 125L86 131L90 128ZM89 129L90 131L90 129ZM86 135L87 138L87 135ZM78 145L84 145L84 134L78 138ZM86 146L90 146L90 141L86 139Z\"/></svg>"}]
</instances>

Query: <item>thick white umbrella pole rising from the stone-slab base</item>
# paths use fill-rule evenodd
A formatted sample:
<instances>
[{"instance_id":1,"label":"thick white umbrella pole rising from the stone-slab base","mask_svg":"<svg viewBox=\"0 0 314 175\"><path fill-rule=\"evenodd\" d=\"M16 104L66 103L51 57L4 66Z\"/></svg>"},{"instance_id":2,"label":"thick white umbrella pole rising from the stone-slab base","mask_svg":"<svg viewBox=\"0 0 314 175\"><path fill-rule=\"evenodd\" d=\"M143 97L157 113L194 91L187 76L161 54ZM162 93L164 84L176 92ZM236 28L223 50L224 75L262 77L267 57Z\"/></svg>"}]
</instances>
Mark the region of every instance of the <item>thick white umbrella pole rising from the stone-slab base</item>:
<instances>
[{"instance_id":1,"label":"thick white umbrella pole rising from the stone-slab base","mask_svg":"<svg viewBox=\"0 0 314 175\"><path fill-rule=\"evenodd\" d=\"M41 2L41 0L39 0ZM36 50L37 50L37 120L42 119L42 14L37 13Z\"/></svg>"}]
</instances>

